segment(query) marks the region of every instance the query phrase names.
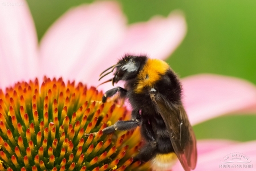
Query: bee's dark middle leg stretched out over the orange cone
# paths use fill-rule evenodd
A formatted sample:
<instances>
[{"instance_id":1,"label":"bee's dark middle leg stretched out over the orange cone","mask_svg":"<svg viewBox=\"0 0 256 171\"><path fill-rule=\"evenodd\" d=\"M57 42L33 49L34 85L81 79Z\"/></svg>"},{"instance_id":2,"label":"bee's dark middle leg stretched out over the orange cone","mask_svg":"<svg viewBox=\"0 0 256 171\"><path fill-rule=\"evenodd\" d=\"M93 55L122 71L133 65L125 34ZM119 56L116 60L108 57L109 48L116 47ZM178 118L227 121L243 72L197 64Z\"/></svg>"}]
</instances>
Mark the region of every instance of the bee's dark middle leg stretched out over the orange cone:
<instances>
[{"instance_id":1,"label":"bee's dark middle leg stretched out over the orange cone","mask_svg":"<svg viewBox=\"0 0 256 171\"><path fill-rule=\"evenodd\" d=\"M130 129L135 129L141 123L141 120L127 120L127 121L117 121L115 124L102 129L103 134L108 135L115 131L126 131Z\"/></svg>"}]
</instances>

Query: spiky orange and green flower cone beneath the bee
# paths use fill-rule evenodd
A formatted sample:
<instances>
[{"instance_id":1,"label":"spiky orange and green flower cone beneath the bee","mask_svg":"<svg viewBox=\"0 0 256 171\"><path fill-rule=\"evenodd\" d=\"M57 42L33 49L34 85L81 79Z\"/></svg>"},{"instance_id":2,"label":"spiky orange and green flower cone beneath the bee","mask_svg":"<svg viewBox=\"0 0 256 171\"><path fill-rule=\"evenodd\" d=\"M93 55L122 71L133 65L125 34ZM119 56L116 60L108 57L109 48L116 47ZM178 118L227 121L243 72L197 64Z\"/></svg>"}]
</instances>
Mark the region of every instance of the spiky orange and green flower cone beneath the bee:
<instances>
[{"instance_id":1,"label":"spiky orange and green flower cone beneath the bee","mask_svg":"<svg viewBox=\"0 0 256 171\"><path fill-rule=\"evenodd\" d=\"M102 91L44 77L0 89L0 170L148 170L132 163L139 129L103 135L130 112ZM96 136L90 134L97 132Z\"/></svg>"}]
</instances>

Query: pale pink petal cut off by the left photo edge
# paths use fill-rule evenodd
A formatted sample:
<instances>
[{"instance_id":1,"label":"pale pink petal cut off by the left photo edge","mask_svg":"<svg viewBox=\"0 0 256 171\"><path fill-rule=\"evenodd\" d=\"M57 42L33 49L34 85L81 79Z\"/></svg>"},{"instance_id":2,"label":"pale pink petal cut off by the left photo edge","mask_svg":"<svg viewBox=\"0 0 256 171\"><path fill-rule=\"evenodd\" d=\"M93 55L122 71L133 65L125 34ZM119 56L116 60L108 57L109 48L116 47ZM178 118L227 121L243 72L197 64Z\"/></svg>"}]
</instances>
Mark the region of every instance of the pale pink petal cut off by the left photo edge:
<instances>
[{"instance_id":1,"label":"pale pink petal cut off by the left photo edge","mask_svg":"<svg viewBox=\"0 0 256 171\"><path fill-rule=\"evenodd\" d=\"M34 79L37 38L26 1L1 2L0 23L0 87Z\"/></svg>"}]
</instances>

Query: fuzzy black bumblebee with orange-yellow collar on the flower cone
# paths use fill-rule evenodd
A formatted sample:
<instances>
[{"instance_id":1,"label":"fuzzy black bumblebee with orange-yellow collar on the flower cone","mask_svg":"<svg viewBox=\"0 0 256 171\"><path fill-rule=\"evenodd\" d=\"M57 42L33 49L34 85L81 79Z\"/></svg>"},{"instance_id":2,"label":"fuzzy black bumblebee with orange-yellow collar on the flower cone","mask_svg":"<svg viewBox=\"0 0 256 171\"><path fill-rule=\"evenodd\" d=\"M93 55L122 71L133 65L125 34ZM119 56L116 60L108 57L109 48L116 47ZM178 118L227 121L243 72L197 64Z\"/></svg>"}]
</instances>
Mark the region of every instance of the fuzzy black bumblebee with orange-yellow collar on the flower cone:
<instances>
[{"instance_id":1,"label":"fuzzy black bumblebee with orange-yellow collar on the flower cone","mask_svg":"<svg viewBox=\"0 0 256 171\"><path fill-rule=\"evenodd\" d=\"M125 55L103 71L100 79L111 72L114 72L113 78L104 83L114 85L123 81L124 88L109 89L102 101L105 103L108 97L119 93L121 99L128 99L131 104L132 119L117 121L104 128L103 134L139 126L145 145L134 161L151 161L153 170L166 170L178 158L184 170L194 169L197 163L196 136L181 102L180 80L169 65L145 55Z\"/></svg>"}]
</instances>

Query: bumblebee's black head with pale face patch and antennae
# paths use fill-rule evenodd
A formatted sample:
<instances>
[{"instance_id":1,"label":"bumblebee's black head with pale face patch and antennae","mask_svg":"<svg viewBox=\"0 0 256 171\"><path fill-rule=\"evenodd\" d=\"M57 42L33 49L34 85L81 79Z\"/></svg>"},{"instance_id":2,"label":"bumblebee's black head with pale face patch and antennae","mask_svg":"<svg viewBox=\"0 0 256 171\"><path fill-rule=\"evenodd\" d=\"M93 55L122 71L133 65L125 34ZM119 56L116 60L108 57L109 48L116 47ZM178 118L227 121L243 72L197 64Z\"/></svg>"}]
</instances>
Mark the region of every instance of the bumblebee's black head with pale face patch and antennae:
<instances>
[{"instance_id":1,"label":"bumblebee's black head with pale face patch and antennae","mask_svg":"<svg viewBox=\"0 0 256 171\"><path fill-rule=\"evenodd\" d=\"M116 68L116 71L115 71L114 77L112 79L107 80L104 83L112 82L112 84L115 84L115 83L119 82L120 80L127 81L130 79L133 79L138 74L138 72L141 68L141 64L144 64L146 60L147 60L146 56L125 55L124 58L119 60L119 62L117 64L115 64L114 66L109 67L109 68L107 68L107 70L103 71L100 74L100 76L102 75L100 77L100 79L102 79L104 76L113 72L113 70L115 70L115 68ZM107 72L106 74L104 74L106 71L108 71L110 69L112 69L112 70ZM101 84L104 84L104 83L101 83Z\"/></svg>"}]
</instances>

